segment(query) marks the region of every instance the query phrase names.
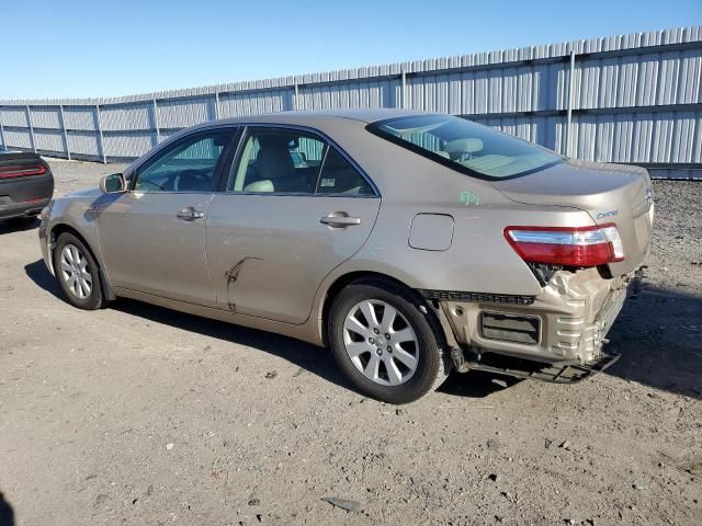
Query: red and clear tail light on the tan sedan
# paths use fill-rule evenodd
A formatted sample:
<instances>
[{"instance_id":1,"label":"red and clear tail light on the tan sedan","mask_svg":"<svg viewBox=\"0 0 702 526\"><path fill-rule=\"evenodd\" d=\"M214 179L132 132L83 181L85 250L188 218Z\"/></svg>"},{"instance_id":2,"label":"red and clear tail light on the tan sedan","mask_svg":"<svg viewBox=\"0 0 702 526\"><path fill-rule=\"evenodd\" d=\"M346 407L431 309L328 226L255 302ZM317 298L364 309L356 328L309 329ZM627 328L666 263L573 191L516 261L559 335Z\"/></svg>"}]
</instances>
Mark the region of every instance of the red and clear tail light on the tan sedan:
<instances>
[{"instance_id":1,"label":"red and clear tail light on the tan sedan","mask_svg":"<svg viewBox=\"0 0 702 526\"><path fill-rule=\"evenodd\" d=\"M563 266L622 261L624 247L613 224L596 227L507 227L505 237L522 260Z\"/></svg>"}]
</instances>

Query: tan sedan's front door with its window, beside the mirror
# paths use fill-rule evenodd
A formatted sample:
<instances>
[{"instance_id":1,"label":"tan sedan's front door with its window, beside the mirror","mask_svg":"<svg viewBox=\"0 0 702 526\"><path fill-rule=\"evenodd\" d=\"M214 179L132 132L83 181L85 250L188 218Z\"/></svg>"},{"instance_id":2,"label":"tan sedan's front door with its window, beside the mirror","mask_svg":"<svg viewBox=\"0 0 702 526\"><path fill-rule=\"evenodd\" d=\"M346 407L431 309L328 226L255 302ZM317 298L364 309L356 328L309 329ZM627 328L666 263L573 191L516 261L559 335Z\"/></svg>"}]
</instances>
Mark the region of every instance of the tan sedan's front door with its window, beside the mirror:
<instances>
[{"instance_id":1,"label":"tan sedan's front door with its window, beside the mirror","mask_svg":"<svg viewBox=\"0 0 702 526\"><path fill-rule=\"evenodd\" d=\"M129 190L102 209L98 232L115 287L216 306L205 254L205 216L235 129L188 135L157 151Z\"/></svg>"}]
</instances>

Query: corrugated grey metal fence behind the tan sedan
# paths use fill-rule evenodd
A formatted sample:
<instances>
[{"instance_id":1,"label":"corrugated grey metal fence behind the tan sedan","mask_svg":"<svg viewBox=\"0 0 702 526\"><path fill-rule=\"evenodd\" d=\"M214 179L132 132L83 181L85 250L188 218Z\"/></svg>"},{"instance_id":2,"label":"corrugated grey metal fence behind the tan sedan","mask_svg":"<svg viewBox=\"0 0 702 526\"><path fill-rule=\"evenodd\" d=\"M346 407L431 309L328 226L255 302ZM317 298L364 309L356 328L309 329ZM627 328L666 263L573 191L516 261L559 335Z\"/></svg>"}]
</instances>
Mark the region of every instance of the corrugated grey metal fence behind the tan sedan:
<instances>
[{"instance_id":1,"label":"corrugated grey metal fence behind the tan sedan","mask_svg":"<svg viewBox=\"0 0 702 526\"><path fill-rule=\"evenodd\" d=\"M0 101L0 144L122 161L204 121L331 107L453 113L570 157L702 178L702 27L147 95Z\"/></svg>"}]
</instances>

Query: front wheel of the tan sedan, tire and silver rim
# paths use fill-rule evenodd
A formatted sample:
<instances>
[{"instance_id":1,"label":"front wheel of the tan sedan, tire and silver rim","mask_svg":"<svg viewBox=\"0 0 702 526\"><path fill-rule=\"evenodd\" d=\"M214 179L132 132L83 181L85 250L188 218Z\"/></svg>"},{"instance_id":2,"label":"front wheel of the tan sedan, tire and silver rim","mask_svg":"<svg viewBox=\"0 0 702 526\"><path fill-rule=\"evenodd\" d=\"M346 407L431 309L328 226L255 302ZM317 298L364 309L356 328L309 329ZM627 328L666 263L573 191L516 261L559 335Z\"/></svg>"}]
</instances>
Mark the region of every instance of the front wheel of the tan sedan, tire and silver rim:
<instances>
[{"instance_id":1,"label":"front wheel of the tan sedan, tire and silver rim","mask_svg":"<svg viewBox=\"0 0 702 526\"><path fill-rule=\"evenodd\" d=\"M102 295L100 267L86 244L72 233L61 233L54 250L54 274L66 299L84 310L100 309Z\"/></svg>"}]
</instances>

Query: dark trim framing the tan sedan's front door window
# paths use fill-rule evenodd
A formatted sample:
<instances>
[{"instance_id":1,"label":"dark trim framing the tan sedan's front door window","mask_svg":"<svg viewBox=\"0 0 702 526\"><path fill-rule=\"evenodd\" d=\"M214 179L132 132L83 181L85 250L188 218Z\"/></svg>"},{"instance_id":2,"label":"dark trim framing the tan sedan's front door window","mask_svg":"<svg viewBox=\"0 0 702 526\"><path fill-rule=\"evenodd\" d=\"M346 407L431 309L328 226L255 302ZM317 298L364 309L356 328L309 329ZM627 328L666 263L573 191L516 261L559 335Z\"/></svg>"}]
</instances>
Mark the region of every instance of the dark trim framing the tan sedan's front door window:
<instances>
[{"instance_id":1,"label":"dark trim framing the tan sedan's front door window","mask_svg":"<svg viewBox=\"0 0 702 526\"><path fill-rule=\"evenodd\" d=\"M129 170L128 175L131 176L131 179L129 179L129 185L127 187L127 192L129 193L138 192L140 194L214 194L215 192L217 192L217 188L219 187L219 183L222 181L222 173L225 170L226 163L229 160L230 151L237 145L237 141L238 141L237 133L239 132L240 127L241 127L240 125L227 125L227 126L211 126L205 128L197 128L197 129L192 129L188 133L184 133L181 136L177 136L172 140L166 140L161 142L161 145L159 145L158 148L151 151L150 155L147 155L141 162L139 162L132 170ZM212 174L212 183L210 185L210 190L177 192L174 190L151 191L151 190L135 188L136 182L139 178L139 171L144 170L145 168L149 168L155 162L157 162L162 153L168 155L169 151L171 151L174 148L178 148L183 142L190 141L193 137L197 137L201 135L202 136L210 135L217 132L228 133L229 139L227 145L222 150L219 158L217 159L215 171Z\"/></svg>"}]
</instances>

